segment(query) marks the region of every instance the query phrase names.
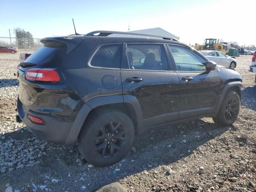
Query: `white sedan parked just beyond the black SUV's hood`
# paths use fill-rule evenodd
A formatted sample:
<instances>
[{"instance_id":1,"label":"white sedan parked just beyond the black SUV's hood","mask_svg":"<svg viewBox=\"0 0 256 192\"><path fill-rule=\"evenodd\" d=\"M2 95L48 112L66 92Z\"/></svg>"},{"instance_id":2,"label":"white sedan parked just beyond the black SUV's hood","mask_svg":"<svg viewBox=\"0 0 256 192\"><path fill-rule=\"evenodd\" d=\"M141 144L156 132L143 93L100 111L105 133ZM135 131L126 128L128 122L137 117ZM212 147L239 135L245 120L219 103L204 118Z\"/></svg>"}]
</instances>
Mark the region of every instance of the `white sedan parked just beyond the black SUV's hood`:
<instances>
[{"instance_id":1,"label":"white sedan parked just beyond the black SUV's hood","mask_svg":"<svg viewBox=\"0 0 256 192\"><path fill-rule=\"evenodd\" d=\"M218 65L232 69L236 68L236 59L227 56L220 51L200 51L200 53L209 60L216 62Z\"/></svg>"}]
</instances>

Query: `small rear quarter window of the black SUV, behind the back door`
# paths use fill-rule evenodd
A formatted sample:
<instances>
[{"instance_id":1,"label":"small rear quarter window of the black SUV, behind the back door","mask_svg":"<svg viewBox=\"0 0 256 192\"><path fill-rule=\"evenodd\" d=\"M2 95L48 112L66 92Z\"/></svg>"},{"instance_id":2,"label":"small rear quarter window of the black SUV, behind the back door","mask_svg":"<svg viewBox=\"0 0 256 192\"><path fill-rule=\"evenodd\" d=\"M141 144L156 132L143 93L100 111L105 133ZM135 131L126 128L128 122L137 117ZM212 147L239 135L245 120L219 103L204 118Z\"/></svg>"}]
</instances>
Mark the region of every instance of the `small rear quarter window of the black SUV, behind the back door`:
<instances>
[{"instance_id":1,"label":"small rear quarter window of the black SUV, behind the back door","mask_svg":"<svg viewBox=\"0 0 256 192\"><path fill-rule=\"evenodd\" d=\"M120 68L121 44L101 46L94 54L90 64L94 67Z\"/></svg>"}]
</instances>

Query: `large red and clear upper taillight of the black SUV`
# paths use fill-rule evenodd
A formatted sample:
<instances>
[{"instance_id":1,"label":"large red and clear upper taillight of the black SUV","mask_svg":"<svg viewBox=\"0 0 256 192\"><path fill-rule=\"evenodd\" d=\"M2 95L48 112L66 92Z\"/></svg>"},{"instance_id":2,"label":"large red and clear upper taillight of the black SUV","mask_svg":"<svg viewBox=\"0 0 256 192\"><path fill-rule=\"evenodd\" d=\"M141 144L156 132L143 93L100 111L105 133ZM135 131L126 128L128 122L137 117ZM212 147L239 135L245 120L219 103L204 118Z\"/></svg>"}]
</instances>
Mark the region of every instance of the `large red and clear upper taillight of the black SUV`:
<instances>
[{"instance_id":1,"label":"large red and clear upper taillight of the black SUV","mask_svg":"<svg viewBox=\"0 0 256 192\"><path fill-rule=\"evenodd\" d=\"M52 68L32 68L26 70L26 79L30 81L59 82L60 76Z\"/></svg>"}]
</instances>

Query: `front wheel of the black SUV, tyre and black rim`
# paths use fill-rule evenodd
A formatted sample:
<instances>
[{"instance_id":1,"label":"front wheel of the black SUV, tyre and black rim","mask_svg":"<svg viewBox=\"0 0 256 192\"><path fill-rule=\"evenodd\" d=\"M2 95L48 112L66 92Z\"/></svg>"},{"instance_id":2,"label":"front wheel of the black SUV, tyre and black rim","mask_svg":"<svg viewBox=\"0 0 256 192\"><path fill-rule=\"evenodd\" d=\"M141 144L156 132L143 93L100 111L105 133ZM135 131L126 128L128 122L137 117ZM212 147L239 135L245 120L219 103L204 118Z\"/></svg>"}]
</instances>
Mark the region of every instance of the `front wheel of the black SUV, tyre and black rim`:
<instances>
[{"instance_id":1,"label":"front wheel of the black SUV, tyre and black rim","mask_svg":"<svg viewBox=\"0 0 256 192\"><path fill-rule=\"evenodd\" d=\"M229 126L236 121L240 109L240 97L237 92L228 91L216 117L212 118L216 124Z\"/></svg>"}]
</instances>

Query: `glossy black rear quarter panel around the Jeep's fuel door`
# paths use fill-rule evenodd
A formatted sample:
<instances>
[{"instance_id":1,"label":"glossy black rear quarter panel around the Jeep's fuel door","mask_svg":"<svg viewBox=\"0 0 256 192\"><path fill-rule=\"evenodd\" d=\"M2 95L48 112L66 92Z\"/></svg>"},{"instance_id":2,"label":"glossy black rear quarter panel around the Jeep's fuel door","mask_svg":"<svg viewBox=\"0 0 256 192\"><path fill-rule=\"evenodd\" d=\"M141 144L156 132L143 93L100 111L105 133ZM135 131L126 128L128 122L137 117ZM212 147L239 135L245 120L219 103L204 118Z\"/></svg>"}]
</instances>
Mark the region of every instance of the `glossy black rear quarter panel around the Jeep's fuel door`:
<instances>
[{"instance_id":1,"label":"glossy black rear quarter panel around the Jeep's fuel door","mask_svg":"<svg viewBox=\"0 0 256 192\"><path fill-rule=\"evenodd\" d=\"M60 65L65 84L74 90L84 102L109 95L122 95L122 81L119 69L99 69L88 67L88 60L94 52L98 42L84 40ZM116 86L109 88L103 83L103 78L108 76L115 81ZM110 82L111 83L111 82Z\"/></svg>"}]
</instances>

